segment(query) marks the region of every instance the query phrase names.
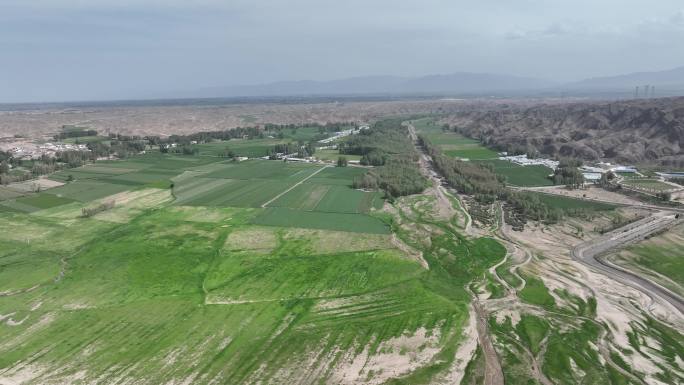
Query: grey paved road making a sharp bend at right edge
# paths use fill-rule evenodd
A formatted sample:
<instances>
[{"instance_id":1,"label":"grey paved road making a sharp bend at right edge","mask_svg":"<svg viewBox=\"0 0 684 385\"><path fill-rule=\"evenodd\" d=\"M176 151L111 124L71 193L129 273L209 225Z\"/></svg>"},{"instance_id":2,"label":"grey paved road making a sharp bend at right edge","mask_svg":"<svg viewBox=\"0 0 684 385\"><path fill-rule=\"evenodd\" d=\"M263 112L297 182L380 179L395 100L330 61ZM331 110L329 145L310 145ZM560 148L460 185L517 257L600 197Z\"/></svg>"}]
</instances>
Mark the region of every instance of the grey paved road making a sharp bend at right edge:
<instances>
[{"instance_id":1,"label":"grey paved road making a sharp bend at right edge","mask_svg":"<svg viewBox=\"0 0 684 385\"><path fill-rule=\"evenodd\" d=\"M642 290L651 298L660 297L684 314L684 300L676 293L629 270L617 266L603 258L601 254L614 251L630 243L638 242L646 236L674 226L679 220L674 212L657 212L640 221L611 231L599 238L582 243L572 250L577 261L595 268L624 284Z\"/></svg>"}]
</instances>

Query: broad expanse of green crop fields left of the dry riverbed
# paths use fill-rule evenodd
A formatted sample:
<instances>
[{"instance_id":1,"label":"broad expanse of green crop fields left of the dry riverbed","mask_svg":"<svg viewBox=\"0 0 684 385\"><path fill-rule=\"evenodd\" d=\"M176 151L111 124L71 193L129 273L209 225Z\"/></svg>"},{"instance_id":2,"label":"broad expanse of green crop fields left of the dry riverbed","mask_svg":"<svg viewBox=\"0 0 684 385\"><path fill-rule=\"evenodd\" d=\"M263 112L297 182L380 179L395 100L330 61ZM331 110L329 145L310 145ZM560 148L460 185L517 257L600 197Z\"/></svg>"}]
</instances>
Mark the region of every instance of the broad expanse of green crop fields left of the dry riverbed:
<instances>
[{"instance_id":1,"label":"broad expanse of green crop fields left of the dry riverbed","mask_svg":"<svg viewBox=\"0 0 684 385\"><path fill-rule=\"evenodd\" d=\"M453 362L463 282L503 248L445 237L457 279L432 277L381 194L351 188L366 171L153 153L8 196L0 379L430 383Z\"/></svg>"}]
</instances>

